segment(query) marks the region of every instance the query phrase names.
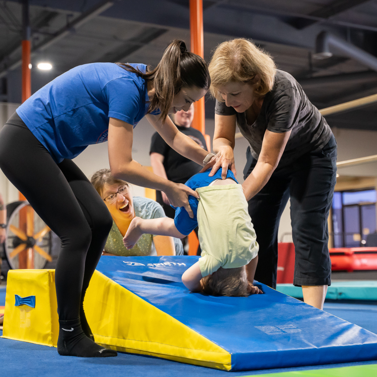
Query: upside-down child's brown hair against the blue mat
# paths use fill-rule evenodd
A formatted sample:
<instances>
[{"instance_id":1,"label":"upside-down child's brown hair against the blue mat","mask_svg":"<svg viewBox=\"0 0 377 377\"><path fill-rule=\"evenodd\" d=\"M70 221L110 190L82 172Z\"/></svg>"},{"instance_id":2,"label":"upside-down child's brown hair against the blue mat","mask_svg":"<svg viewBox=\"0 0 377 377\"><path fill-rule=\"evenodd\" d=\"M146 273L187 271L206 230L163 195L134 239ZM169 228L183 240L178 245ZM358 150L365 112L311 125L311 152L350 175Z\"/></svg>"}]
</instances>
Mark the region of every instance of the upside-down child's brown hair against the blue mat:
<instances>
[{"instance_id":1,"label":"upside-down child's brown hair against the blue mat","mask_svg":"<svg viewBox=\"0 0 377 377\"><path fill-rule=\"evenodd\" d=\"M203 293L212 296L248 296L245 266L222 268L202 278Z\"/></svg>"}]
</instances>

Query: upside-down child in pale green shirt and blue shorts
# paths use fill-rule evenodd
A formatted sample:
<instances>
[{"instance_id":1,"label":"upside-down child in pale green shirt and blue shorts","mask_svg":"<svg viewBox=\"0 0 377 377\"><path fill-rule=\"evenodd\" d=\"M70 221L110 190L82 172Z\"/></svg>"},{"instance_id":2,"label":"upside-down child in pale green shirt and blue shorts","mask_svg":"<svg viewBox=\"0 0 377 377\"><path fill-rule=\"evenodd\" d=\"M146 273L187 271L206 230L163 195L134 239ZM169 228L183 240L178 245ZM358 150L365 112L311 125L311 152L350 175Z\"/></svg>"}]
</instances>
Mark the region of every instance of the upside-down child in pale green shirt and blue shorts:
<instances>
[{"instance_id":1,"label":"upside-down child in pale green shirt and blue shorts","mask_svg":"<svg viewBox=\"0 0 377 377\"><path fill-rule=\"evenodd\" d=\"M124 245L132 248L143 233L183 238L199 225L201 257L184 272L183 284L192 291L216 296L262 293L253 285L259 245L242 186L230 170L227 179L221 179L221 169L212 177L210 171L185 183L200 196L199 200L189 197L194 218L183 207L175 209L174 220L136 217L124 236Z\"/></svg>"}]
</instances>

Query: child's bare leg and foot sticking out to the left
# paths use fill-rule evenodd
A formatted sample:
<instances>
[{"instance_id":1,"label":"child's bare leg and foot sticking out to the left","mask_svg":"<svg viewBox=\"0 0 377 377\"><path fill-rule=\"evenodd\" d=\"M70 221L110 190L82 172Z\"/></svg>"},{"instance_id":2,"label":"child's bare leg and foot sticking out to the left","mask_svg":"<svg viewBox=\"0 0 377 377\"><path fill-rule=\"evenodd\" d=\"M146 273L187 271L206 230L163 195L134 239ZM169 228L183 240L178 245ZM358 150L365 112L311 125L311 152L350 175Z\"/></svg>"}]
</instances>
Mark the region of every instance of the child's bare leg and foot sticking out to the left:
<instances>
[{"instance_id":1,"label":"child's bare leg and foot sticking out to the left","mask_svg":"<svg viewBox=\"0 0 377 377\"><path fill-rule=\"evenodd\" d=\"M127 249L132 249L142 234L155 234L156 236L171 236L176 238L184 238L182 234L175 227L174 220L168 217L161 217L158 219L142 219L135 217L132 219L130 226L123 238L124 246Z\"/></svg>"}]
</instances>

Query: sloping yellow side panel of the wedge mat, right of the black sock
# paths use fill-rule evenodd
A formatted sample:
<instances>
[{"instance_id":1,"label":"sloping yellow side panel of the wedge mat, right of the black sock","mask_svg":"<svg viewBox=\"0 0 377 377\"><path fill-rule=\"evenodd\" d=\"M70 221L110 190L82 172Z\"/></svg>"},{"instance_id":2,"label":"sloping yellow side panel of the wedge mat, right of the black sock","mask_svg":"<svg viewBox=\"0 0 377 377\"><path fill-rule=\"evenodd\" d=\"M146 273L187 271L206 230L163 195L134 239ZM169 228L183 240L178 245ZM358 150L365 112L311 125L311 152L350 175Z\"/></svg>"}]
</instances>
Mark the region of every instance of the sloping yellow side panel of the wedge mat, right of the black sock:
<instances>
[{"instance_id":1,"label":"sloping yellow side panel of the wedge mat, right of the black sock","mask_svg":"<svg viewBox=\"0 0 377 377\"><path fill-rule=\"evenodd\" d=\"M118 351L230 370L231 354L95 271L84 310L95 341Z\"/></svg>"}]
</instances>

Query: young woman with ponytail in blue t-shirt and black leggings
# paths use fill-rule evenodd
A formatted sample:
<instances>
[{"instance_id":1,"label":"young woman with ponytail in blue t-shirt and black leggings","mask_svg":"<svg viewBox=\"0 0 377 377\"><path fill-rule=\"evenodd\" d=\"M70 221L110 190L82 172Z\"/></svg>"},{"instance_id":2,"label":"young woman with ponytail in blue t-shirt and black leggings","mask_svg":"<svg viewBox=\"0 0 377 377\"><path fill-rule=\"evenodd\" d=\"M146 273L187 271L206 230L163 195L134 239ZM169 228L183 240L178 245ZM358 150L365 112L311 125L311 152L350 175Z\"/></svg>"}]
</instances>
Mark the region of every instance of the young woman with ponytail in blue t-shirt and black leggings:
<instances>
[{"instance_id":1,"label":"young woman with ponytail in blue t-shirt and black leggings","mask_svg":"<svg viewBox=\"0 0 377 377\"><path fill-rule=\"evenodd\" d=\"M120 63L75 67L18 107L0 135L0 168L61 239L55 270L61 355L116 356L93 341L83 309L112 218L72 158L89 144L108 140L115 178L161 190L191 216L188 196L198 196L134 161L132 136L133 128L146 116L177 152L200 164L207 160L208 152L167 117L188 110L205 95L210 86L207 64L176 40L156 69L147 72L146 68Z\"/></svg>"}]
</instances>

